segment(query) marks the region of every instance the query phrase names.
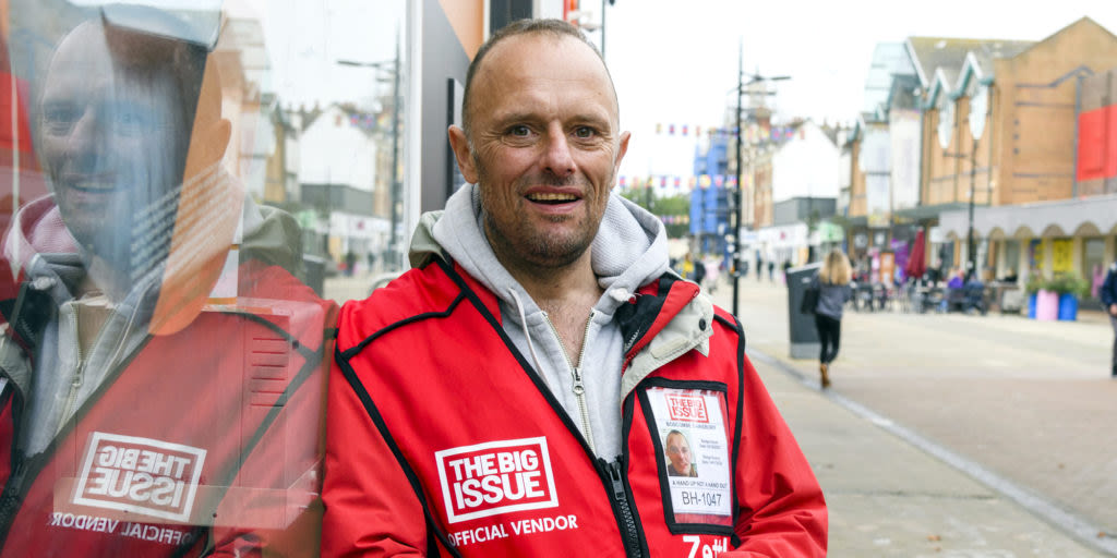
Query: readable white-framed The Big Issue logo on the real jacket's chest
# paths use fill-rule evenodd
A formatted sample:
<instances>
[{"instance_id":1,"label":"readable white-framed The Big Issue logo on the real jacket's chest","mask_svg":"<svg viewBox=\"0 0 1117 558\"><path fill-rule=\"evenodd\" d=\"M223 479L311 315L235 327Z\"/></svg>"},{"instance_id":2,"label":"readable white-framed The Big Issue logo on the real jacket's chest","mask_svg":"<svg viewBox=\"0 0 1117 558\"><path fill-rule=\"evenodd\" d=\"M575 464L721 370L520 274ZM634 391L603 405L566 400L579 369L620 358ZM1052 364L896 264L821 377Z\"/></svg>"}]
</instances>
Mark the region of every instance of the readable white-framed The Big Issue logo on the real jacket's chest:
<instances>
[{"instance_id":1,"label":"readable white-framed The Big Issue logo on the real jacket's chest","mask_svg":"<svg viewBox=\"0 0 1117 558\"><path fill-rule=\"evenodd\" d=\"M447 521L558 506L544 436L435 452Z\"/></svg>"}]
</instances>

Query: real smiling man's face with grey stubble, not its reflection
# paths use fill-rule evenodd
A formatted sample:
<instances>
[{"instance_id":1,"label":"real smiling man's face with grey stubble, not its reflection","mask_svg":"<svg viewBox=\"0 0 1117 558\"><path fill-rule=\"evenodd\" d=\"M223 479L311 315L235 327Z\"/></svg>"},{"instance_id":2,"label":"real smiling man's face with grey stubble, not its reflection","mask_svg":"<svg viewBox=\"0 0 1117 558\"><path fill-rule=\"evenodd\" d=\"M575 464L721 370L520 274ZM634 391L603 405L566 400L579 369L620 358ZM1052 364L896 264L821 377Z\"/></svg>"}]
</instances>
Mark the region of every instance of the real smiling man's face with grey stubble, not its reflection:
<instances>
[{"instance_id":1,"label":"real smiling man's face with grey stubble, not its reflection","mask_svg":"<svg viewBox=\"0 0 1117 558\"><path fill-rule=\"evenodd\" d=\"M455 151L479 184L497 258L509 269L576 261L628 148L601 60L573 38L512 37L489 51L471 88L472 152L464 142Z\"/></svg>"}]
</instances>

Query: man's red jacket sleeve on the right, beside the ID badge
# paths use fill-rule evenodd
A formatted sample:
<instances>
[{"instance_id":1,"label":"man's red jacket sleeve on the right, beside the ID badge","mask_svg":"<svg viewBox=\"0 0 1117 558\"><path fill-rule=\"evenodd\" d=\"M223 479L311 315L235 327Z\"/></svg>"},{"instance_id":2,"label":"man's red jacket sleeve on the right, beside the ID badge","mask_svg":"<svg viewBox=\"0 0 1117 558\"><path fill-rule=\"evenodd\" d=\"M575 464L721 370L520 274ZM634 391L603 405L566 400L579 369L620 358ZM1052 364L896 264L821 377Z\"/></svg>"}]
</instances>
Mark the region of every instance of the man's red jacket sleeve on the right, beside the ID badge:
<instances>
[{"instance_id":1,"label":"man's red jacket sleeve on the right, beside the ID badge","mask_svg":"<svg viewBox=\"0 0 1117 558\"><path fill-rule=\"evenodd\" d=\"M811 465L752 363L745 357L744 416L737 470L741 539L725 558L827 555L827 507Z\"/></svg>"}]
</instances>

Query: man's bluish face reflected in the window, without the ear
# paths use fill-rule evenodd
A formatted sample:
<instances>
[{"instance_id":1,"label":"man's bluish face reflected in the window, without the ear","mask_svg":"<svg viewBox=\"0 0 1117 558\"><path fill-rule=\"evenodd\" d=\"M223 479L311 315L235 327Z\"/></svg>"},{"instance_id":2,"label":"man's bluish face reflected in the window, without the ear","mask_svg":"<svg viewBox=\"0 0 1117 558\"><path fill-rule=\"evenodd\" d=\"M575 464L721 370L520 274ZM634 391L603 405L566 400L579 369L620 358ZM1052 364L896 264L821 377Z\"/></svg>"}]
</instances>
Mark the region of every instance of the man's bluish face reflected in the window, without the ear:
<instances>
[{"instance_id":1,"label":"man's bluish face reflected in the window, without the ear","mask_svg":"<svg viewBox=\"0 0 1117 558\"><path fill-rule=\"evenodd\" d=\"M173 210L152 202L181 182L180 97L170 71L120 59L96 23L67 36L47 69L38 124L58 208L74 238L118 269L133 238L156 233L137 224L166 223L145 212Z\"/></svg>"}]
</instances>

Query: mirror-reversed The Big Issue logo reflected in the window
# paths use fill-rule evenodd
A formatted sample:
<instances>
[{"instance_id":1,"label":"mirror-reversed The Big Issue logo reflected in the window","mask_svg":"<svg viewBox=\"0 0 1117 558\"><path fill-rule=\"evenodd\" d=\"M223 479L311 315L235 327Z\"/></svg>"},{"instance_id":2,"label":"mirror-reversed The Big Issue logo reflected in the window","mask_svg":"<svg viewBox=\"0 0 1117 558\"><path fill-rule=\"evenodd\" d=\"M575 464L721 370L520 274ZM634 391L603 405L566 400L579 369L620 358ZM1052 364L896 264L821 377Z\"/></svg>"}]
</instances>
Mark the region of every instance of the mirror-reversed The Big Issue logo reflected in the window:
<instances>
[{"instance_id":1,"label":"mirror-reversed The Big Issue logo reflected in the window","mask_svg":"<svg viewBox=\"0 0 1117 558\"><path fill-rule=\"evenodd\" d=\"M73 502L188 521L204 461L200 448L94 432Z\"/></svg>"}]
</instances>

